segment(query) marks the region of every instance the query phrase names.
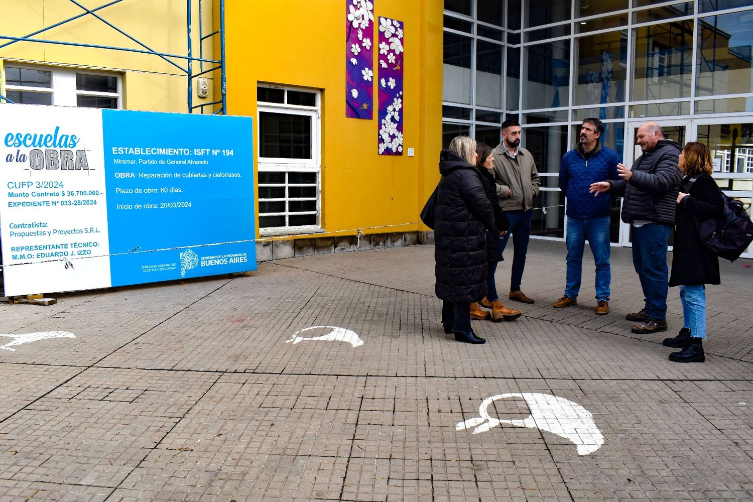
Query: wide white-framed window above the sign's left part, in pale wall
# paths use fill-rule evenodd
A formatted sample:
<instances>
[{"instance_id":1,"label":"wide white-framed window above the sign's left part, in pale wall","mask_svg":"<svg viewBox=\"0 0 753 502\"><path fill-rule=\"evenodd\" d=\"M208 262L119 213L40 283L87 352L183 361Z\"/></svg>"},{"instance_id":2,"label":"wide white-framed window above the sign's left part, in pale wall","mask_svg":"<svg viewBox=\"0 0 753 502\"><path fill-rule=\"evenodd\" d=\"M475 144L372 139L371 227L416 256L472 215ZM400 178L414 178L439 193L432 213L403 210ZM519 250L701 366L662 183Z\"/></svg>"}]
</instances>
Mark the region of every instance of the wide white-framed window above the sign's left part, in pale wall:
<instances>
[{"instance_id":1,"label":"wide white-framed window above the sign's left part, in pale wall","mask_svg":"<svg viewBox=\"0 0 753 502\"><path fill-rule=\"evenodd\" d=\"M5 96L27 105L120 108L120 75L6 64Z\"/></svg>"}]
</instances>

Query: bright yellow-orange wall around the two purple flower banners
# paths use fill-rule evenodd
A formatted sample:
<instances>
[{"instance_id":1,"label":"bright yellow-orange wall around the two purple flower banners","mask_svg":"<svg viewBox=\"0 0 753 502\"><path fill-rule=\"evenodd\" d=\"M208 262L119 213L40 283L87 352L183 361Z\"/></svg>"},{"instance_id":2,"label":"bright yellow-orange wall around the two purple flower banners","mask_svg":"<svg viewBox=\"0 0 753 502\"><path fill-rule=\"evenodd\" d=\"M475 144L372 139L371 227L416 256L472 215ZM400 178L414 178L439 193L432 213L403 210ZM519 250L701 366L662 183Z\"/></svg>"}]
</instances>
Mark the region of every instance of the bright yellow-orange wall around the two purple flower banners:
<instances>
[{"instance_id":1,"label":"bright yellow-orange wall around the two purple flower banners","mask_svg":"<svg viewBox=\"0 0 753 502\"><path fill-rule=\"evenodd\" d=\"M377 154L376 110L373 120L345 116L345 16L343 0L227 0L228 113L257 117L260 82L322 90L322 227L331 233L419 221L439 179L443 2L375 2L376 29L380 16L404 25L401 157ZM374 74L377 108L377 70ZM407 157L408 148L415 157ZM258 145L255 149L258 156ZM425 227L365 231L410 230Z\"/></svg>"}]
</instances>

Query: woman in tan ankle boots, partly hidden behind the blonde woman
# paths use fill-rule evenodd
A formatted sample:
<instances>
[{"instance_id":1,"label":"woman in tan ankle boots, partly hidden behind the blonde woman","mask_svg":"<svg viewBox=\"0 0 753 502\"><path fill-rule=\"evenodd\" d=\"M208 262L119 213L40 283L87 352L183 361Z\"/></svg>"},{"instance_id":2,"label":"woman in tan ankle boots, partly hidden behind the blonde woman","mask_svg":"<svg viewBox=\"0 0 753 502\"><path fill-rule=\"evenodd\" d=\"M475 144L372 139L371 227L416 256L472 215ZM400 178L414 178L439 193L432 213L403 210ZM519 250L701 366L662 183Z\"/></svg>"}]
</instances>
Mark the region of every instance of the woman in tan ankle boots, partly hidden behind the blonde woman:
<instances>
[{"instance_id":1,"label":"woman in tan ankle boots, partly hidden behind the blonde woman","mask_svg":"<svg viewBox=\"0 0 753 502\"><path fill-rule=\"evenodd\" d=\"M494 274L497 271L497 263L503 260L502 252L499 249L499 239L507 233L510 228L510 221L505 216L505 212L499 207L499 199L497 197L497 191L494 181L494 156L492 155L492 147L486 145L486 143L476 144L476 169L481 175L481 181L483 182L483 189L486 190L486 197L489 202L492 203L494 209L494 221L497 227L497 232L489 231L486 233L486 249L489 251L489 274L486 276L486 284L488 286L488 292L486 297L480 301L481 305L487 309L492 309L491 315L489 312L479 308L478 304L471 303L471 319L489 319L492 321L514 321L520 317L520 310L508 309L502 305L497 294L497 284L494 281Z\"/></svg>"}]
</instances>

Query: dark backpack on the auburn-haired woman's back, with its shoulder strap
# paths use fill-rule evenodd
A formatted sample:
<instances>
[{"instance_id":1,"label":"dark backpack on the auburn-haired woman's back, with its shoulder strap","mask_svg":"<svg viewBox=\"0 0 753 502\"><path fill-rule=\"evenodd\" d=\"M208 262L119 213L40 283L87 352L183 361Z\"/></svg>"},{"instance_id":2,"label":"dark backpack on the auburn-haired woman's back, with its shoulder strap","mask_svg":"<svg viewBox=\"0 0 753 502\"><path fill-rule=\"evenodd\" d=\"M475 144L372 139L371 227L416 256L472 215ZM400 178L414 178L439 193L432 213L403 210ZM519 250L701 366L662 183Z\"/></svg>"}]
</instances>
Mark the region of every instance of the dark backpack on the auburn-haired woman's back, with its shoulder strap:
<instances>
[{"instance_id":1,"label":"dark backpack on the auburn-haired woman's back, with its shoulder strap","mask_svg":"<svg viewBox=\"0 0 753 502\"><path fill-rule=\"evenodd\" d=\"M690 193L696 178L694 176L688 181L685 187L687 193ZM697 221L698 235L706 249L720 258L734 261L753 242L753 222L742 202L724 195L721 190L719 195L724 201L722 217Z\"/></svg>"}]
</instances>

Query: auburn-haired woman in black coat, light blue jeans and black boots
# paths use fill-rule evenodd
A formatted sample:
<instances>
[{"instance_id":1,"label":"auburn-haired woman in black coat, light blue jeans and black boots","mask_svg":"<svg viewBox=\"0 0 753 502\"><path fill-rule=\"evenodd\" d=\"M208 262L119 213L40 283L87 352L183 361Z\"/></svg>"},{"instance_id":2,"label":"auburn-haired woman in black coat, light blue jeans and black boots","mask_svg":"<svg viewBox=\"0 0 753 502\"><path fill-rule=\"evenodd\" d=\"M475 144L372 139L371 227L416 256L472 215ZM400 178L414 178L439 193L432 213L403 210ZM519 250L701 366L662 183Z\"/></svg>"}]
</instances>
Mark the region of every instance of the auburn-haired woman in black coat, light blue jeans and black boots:
<instances>
[{"instance_id":1,"label":"auburn-haired woman in black coat, light blue jeans and black boots","mask_svg":"<svg viewBox=\"0 0 753 502\"><path fill-rule=\"evenodd\" d=\"M706 287L719 284L719 260L706 249L698 236L697 221L721 218L724 201L719 187L711 177L712 163L709 148L691 141L680 154L678 167L684 178L677 195L675 212L675 246L672 251L670 286L680 287L683 327L674 338L663 345L681 348L669 354L677 363L706 361L703 339L706 338Z\"/></svg>"}]
</instances>

